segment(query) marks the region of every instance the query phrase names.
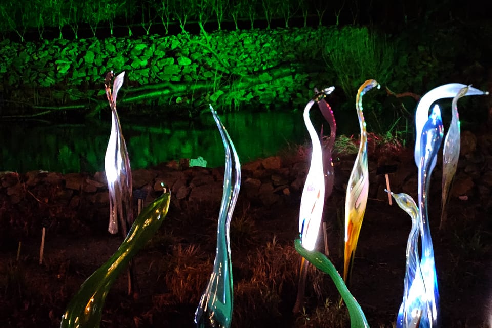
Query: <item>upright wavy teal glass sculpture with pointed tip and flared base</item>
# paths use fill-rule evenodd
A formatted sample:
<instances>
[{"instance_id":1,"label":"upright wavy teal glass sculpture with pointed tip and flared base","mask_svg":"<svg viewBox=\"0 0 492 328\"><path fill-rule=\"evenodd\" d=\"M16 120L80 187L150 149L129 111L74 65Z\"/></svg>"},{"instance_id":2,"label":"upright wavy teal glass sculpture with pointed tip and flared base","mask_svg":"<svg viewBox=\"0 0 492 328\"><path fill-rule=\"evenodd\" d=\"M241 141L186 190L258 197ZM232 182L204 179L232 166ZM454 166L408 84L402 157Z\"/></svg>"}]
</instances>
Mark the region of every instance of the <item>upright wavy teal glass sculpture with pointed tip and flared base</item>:
<instances>
[{"instance_id":1,"label":"upright wavy teal glass sculpture with pointed tip and flared base","mask_svg":"<svg viewBox=\"0 0 492 328\"><path fill-rule=\"evenodd\" d=\"M226 151L224 189L217 222L217 251L207 289L195 312L198 328L229 328L233 310L233 284L229 227L241 186L241 164L226 128L211 105L210 110Z\"/></svg>"}]
</instances>

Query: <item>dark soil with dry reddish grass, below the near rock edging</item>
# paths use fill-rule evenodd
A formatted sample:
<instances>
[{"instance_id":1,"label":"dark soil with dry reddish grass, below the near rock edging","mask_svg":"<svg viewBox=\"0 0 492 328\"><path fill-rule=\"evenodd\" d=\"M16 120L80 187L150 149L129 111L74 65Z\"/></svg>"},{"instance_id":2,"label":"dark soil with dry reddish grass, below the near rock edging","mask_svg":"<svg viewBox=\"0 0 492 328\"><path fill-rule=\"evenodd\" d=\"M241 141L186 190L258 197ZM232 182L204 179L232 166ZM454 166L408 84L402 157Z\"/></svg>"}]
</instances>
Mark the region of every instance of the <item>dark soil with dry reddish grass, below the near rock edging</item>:
<instances>
[{"instance_id":1,"label":"dark soil with dry reddish grass, below the near rock edging","mask_svg":"<svg viewBox=\"0 0 492 328\"><path fill-rule=\"evenodd\" d=\"M407 155L402 155L401 160L411 160ZM337 174L340 178L327 201L325 221L329 257L341 271L340 209L346 177ZM433 181L433 186L433 190L440 189L439 182ZM370 326L394 327L403 292L411 220L396 204L389 206L387 198L375 195L367 204L350 290ZM231 223L233 327L350 326L346 309L337 306L339 296L332 281L312 265L304 310L292 313L300 260L293 247L298 235L299 201L299 192L282 195L269 206L240 195ZM467 201L453 199L449 228L438 231L439 198L429 204L441 295L441 326L489 326L490 207L474 194ZM3 215L22 211L9 209L5 202L2 207ZM107 297L100 326L194 326L194 312L215 256L218 210L219 203L173 202L158 233L135 258L138 295L127 296L126 277L122 275ZM38 215L29 209L20 214ZM20 239L18 260L19 238L4 239L0 249L0 326L59 326L61 315L80 284L120 244L120 237L110 236L106 225L107 216L101 213L89 222L74 220L48 228L42 264L40 231ZM319 244L323 248L322 236Z\"/></svg>"}]
</instances>

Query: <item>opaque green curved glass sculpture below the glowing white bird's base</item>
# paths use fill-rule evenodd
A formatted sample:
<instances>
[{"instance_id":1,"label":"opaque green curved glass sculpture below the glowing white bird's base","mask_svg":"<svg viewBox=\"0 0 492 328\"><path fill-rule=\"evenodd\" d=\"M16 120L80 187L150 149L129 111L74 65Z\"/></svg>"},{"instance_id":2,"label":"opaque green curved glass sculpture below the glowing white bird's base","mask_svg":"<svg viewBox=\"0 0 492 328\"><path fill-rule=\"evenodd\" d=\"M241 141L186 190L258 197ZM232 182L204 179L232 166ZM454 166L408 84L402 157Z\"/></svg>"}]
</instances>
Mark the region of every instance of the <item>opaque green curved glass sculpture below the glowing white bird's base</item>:
<instances>
[{"instance_id":1,"label":"opaque green curved glass sculpture below the glowing white bird's base","mask_svg":"<svg viewBox=\"0 0 492 328\"><path fill-rule=\"evenodd\" d=\"M364 312L355 297L348 290L333 263L324 254L318 251L309 251L302 247L300 239L296 239L294 241L294 246L296 251L303 258L332 278L338 292L342 296L342 299L347 306L348 314L350 315L350 326L352 328L367 328L369 325L367 323L367 319L365 318Z\"/></svg>"}]
</instances>

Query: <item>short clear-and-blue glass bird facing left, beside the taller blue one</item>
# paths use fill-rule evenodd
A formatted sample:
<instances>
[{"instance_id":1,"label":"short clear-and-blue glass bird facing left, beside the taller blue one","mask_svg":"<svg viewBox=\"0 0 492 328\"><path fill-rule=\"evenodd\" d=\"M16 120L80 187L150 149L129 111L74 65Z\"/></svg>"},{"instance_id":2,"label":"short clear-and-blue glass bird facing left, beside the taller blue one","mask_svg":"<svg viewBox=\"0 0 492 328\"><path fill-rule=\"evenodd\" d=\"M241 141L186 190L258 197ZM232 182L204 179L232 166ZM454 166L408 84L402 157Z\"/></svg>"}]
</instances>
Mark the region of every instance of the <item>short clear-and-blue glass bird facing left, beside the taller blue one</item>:
<instances>
[{"instance_id":1,"label":"short clear-and-blue glass bird facing left, beside the taller blue one","mask_svg":"<svg viewBox=\"0 0 492 328\"><path fill-rule=\"evenodd\" d=\"M420 270L419 237L420 217L417 204L408 194L394 194L396 203L412 219L412 228L406 244L406 270L403 285L403 301L396 320L397 328L417 328L430 310L426 301L424 281ZM425 320L424 320L425 321Z\"/></svg>"}]
</instances>

